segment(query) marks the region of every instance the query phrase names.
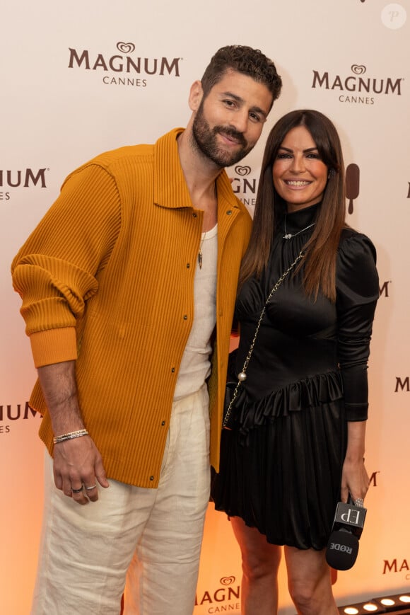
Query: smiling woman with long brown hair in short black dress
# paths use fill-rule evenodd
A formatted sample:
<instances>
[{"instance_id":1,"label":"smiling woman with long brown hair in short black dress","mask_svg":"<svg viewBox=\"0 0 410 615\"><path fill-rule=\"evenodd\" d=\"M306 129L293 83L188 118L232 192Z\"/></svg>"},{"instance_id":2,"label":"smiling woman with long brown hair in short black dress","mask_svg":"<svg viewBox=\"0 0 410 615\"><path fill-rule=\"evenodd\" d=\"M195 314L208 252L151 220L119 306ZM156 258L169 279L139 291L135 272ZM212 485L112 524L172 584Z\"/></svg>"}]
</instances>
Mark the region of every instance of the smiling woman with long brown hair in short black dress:
<instances>
[{"instance_id":1,"label":"smiling woman with long brown hair in short black dress","mask_svg":"<svg viewBox=\"0 0 410 615\"><path fill-rule=\"evenodd\" d=\"M277 612L284 553L298 613L337 614L324 547L339 500L363 503L367 361L379 295L375 248L345 222L344 163L332 122L298 110L266 142L235 315L245 391L223 430L217 510L242 552L242 613ZM362 500L362 502L360 502Z\"/></svg>"}]
</instances>

